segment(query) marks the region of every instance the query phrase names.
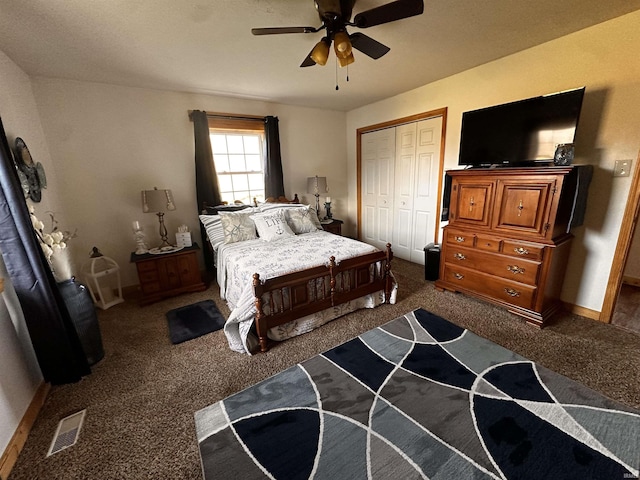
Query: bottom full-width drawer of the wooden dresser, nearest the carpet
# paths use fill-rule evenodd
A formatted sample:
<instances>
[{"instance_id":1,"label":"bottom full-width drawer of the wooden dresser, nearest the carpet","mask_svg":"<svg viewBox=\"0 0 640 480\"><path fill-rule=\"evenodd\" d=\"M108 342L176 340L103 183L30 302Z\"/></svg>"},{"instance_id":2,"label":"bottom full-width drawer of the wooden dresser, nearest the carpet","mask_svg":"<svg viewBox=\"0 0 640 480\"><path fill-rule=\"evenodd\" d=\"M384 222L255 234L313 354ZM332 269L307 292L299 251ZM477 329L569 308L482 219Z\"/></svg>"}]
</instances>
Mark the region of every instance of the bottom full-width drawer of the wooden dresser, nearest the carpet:
<instances>
[{"instance_id":1,"label":"bottom full-width drawer of the wooden dresser, nearest the carpet","mask_svg":"<svg viewBox=\"0 0 640 480\"><path fill-rule=\"evenodd\" d=\"M533 308L536 287L455 265L445 265L444 281L522 308Z\"/></svg>"}]
</instances>

